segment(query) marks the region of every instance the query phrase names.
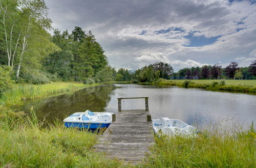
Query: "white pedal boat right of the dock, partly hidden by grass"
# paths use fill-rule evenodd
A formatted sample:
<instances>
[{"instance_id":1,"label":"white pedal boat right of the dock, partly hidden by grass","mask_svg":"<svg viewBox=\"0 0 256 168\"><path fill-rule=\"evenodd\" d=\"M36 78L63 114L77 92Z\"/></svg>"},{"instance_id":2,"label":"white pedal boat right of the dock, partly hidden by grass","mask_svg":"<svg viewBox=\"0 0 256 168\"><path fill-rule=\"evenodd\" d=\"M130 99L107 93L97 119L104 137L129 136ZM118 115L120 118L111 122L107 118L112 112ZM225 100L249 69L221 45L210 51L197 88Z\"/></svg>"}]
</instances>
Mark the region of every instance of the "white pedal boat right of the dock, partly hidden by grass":
<instances>
[{"instance_id":1,"label":"white pedal boat right of the dock, partly hidden by grass","mask_svg":"<svg viewBox=\"0 0 256 168\"><path fill-rule=\"evenodd\" d=\"M152 120L154 132L163 133L169 136L175 135L196 135L197 129L177 119L160 118Z\"/></svg>"}]
</instances>

